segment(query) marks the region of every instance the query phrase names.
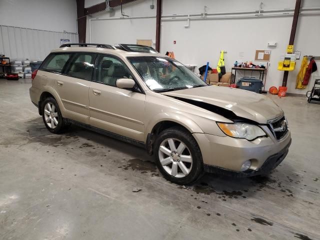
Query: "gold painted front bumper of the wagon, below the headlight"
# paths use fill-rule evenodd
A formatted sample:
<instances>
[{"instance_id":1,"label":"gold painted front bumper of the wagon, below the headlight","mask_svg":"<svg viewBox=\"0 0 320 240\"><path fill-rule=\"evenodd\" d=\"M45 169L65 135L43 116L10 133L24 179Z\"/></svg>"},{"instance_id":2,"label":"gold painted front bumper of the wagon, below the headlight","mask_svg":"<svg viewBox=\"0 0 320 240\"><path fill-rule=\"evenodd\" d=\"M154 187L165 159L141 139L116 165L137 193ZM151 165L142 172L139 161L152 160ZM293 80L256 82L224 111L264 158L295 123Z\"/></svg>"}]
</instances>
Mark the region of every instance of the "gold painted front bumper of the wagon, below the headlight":
<instances>
[{"instance_id":1,"label":"gold painted front bumper of the wagon, below the headlight","mask_svg":"<svg viewBox=\"0 0 320 240\"><path fill-rule=\"evenodd\" d=\"M229 136L216 136L206 133L193 133L201 150L203 164L206 171L215 172L211 168L218 168L230 172L243 173L244 175L261 174L269 165L275 165L283 160L291 143L288 130L281 140L275 139L270 130L265 126L267 137L259 137L253 141L233 138ZM270 160L271 159L271 160ZM251 161L250 168L241 171L242 164ZM272 167L271 167L272 168Z\"/></svg>"}]
</instances>

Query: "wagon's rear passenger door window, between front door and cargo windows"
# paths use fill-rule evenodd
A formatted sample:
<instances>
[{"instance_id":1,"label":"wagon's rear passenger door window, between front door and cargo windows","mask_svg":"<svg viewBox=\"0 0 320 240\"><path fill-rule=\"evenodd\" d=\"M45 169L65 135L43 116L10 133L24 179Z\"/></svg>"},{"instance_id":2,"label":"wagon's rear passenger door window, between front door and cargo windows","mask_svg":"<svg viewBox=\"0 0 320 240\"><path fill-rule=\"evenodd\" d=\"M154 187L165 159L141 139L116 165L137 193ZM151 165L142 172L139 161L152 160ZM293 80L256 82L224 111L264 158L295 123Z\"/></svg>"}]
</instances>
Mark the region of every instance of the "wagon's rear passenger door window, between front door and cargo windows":
<instances>
[{"instance_id":1,"label":"wagon's rear passenger door window, between front door and cargo windows","mask_svg":"<svg viewBox=\"0 0 320 240\"><path fill-rule=\"evenodd\" d=\"M94 53L75 53L64 74L91 80L94 58Z\"/></svg>"}]
</instances>

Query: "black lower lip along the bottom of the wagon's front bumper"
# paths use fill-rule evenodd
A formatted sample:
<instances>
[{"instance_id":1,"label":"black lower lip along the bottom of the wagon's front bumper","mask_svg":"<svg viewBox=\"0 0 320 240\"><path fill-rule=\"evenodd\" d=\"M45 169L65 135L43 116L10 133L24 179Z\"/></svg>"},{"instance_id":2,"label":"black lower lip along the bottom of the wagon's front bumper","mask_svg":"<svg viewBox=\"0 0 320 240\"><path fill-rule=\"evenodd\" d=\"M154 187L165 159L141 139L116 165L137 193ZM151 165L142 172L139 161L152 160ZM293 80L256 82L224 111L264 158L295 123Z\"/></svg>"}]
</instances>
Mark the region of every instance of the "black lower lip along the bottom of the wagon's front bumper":
<instances>
[{"instance_id":1,"label":"black lower lip along the bottom of the wagon's front bumper","mask_svg":"<svg viewBox=\"0 0 320 240\"><path fill-rule=\"evenodd\" d=\"M224 169L221 167L204 164L204 171L217 173L225 176L232 176L232 177L249 177L249 176L261 175L261 174L267 174L271 170L273 170L275 167L277 167L281 163L281 161L283 161L283 159L285 158L286 154L289 151L290 144L291 144L291 139L289 143L282 150L269 156L265 160L263 165L257 170L248 169L246 171L239 172L239 171L232 171L232 170Z\"/></svg>"}]
</instances>

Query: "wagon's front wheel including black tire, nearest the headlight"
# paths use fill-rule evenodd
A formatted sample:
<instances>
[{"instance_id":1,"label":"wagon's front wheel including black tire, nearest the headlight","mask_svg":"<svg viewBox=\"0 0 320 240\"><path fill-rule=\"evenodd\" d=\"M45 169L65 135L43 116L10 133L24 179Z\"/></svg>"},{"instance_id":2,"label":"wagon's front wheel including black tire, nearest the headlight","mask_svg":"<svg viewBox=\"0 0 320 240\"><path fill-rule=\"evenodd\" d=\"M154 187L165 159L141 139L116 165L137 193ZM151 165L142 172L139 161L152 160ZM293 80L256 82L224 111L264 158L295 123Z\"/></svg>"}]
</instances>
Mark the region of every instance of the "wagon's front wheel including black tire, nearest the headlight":
<instances>
[{"instance_id":1,"label":"wagon's front wheel including black tire, nearest the headlight","mask_svg":"<svg viewBox=\"0 0 320 240\"><path fill-rule=\"evenodd\" d=\"M182 127L160 132L153 152L159 171L169 181L189 184L203 172L200 148L192 134Z\"/></svg>"}]
</instances>

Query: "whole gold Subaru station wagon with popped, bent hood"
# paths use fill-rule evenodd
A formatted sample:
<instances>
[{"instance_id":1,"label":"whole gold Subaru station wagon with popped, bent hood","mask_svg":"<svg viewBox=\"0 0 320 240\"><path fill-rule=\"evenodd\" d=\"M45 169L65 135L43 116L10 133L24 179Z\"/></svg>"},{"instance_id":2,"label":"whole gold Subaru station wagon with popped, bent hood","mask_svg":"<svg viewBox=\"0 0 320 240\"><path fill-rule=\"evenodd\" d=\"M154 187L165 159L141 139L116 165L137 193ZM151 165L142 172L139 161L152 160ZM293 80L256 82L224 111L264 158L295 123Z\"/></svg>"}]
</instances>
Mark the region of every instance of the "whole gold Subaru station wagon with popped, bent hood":
<instances>
[{"instance_id":1,"label":"whole gold Subaru station wagon with popped, bent hood","mask_svg":"<svg viewBox=\"0 0 320 240\"><path fill-rule=\"evenodd\" d=\"M63 44L32 73L29 91L49 131L75 123L143 146L178 184L205 171L267 174L291 143L284 113L271 99L207 85L147 46Z\"/></svg>"}]
</instances>

